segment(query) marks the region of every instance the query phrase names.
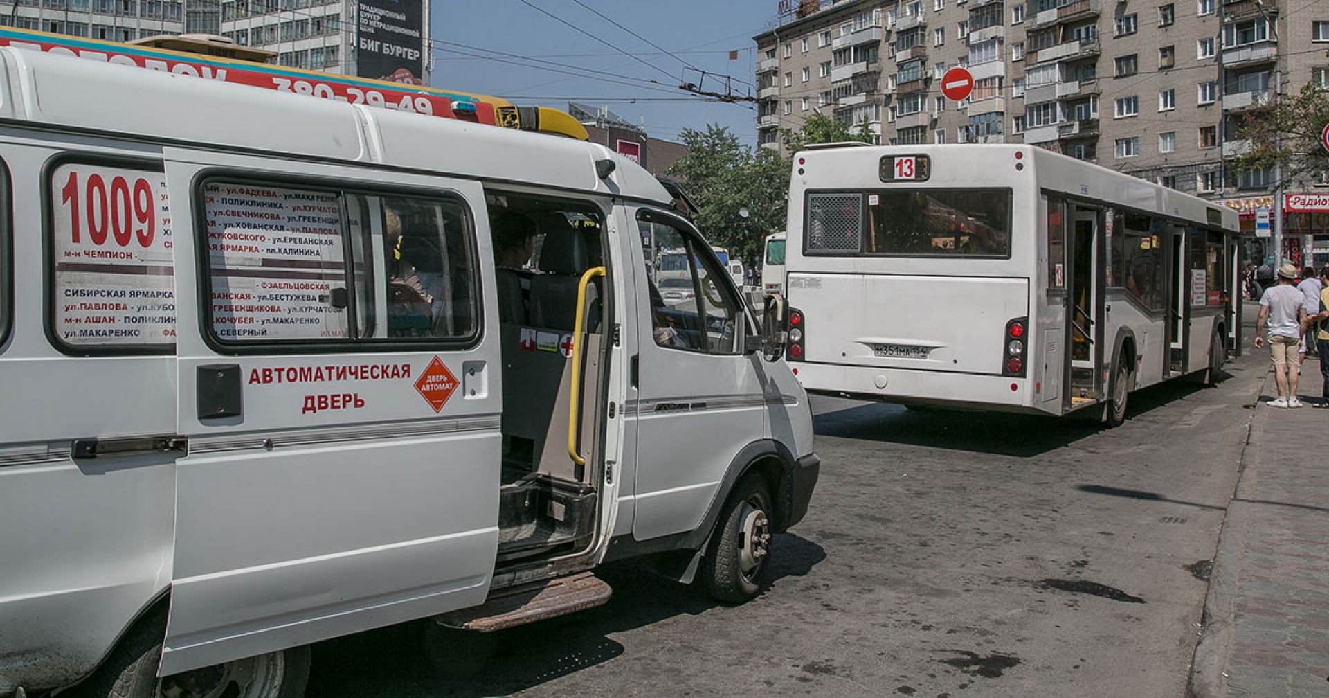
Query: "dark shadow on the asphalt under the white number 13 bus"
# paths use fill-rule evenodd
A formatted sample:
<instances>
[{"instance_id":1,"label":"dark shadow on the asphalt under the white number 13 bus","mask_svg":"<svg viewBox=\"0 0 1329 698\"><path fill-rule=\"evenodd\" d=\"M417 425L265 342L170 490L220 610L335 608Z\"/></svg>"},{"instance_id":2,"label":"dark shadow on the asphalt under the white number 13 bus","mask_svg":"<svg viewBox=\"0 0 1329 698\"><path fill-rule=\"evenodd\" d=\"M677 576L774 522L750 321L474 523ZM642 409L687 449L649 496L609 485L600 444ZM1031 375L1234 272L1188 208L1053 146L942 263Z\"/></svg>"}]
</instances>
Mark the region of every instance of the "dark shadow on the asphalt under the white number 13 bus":
<instances>
[{"instance_id":1,"label":"dark shadow on the asphalt under the white number 13 bus","mask_svg":"<svg viewBox=\"0 0 1329 698\"><path fill-rule=\"evenodd\" d=\"M1224 374L1219 380L1231 378L1231 374ZM1127 404L1127 420L1203 390L1197 383L1172 380L1132 392ZM906 409L896 404L861 403L859 407L816 415L813 425L817 436L1033 457L1103 431L1088 411L1083 416L1073 413L1054 417L942 408Z\"/></svg>"}]
</instances>

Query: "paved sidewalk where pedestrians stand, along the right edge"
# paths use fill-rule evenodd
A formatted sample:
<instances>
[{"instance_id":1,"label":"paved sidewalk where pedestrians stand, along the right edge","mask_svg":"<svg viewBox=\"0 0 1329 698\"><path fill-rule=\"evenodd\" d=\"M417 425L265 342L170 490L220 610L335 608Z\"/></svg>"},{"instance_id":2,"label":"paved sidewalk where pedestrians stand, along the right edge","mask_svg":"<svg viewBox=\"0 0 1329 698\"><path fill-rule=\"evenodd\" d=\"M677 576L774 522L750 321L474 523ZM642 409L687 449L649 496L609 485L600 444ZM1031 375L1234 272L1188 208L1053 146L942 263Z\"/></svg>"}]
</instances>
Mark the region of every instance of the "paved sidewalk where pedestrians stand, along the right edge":
<instances>
[{"instance_id":1,"label":"paved sidewalk where pedestrians stand, along the right edge","mask_svg":"<svg viewBox=\"0 0 1329 698\"><path fill-rule=\"evenodd\" d=\"M1297 394L1320 402L1314 358ZM1269 407L1276 396L1271 372L1219 538L1195 698L1329 695L1329 409Z\"/></svg>"}]
</instances>

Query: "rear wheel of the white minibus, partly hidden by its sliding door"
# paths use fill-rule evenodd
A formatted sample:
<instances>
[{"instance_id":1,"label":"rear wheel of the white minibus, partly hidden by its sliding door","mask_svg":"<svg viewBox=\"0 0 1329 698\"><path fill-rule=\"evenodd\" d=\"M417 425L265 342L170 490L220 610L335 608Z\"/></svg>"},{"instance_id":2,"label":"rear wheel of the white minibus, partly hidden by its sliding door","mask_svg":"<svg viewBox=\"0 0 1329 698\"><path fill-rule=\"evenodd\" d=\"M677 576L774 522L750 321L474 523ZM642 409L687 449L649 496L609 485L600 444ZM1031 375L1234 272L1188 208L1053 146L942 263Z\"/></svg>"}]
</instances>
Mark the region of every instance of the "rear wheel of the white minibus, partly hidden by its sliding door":
<instances>
[{"instance_id":1,"label":"rear wheel of the white minibus, partly hidden by its sliding door","mask_svg":"<svg viewBox=\"0 0 1329 698\"><path fill-rule=\"evenodd\" d=\"M299 646L157 678L166 605L149 612L76 695L82 698L300 698L310 647Z\"/></svg>"}]
</instances>

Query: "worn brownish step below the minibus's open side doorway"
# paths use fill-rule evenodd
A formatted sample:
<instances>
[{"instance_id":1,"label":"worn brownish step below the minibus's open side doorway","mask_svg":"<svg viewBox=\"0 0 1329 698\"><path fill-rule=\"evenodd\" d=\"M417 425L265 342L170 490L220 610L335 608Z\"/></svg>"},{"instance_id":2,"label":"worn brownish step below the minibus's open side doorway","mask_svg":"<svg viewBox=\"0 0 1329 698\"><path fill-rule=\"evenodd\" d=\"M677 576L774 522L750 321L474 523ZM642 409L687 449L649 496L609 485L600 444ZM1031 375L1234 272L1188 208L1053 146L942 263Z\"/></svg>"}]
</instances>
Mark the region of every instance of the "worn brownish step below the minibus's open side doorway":
<instances>
[{"instance_id":1,"label":"worn brownish step below the minibus's open side doorway","mask_svg":"<svg viewBox=\"0 0 1329 698\"><path fill-rule=\"evenodd\" d=\"M478 606L436 616L435 621L447 628L492 633L591 609L609 601L611 594L613 589L599 577L582 572L534 585L500 589Z\"/></svg>"}]
</instances>

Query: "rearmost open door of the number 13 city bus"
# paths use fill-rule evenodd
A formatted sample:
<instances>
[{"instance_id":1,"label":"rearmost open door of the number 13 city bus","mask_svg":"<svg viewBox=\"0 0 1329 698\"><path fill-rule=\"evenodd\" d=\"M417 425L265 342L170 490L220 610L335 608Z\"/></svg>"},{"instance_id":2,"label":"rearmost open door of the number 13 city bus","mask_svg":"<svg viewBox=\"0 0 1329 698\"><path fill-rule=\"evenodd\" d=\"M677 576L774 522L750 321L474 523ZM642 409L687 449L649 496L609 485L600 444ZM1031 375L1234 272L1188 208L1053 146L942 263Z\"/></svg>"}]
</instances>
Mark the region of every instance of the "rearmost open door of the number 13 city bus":
<instances>
[{"instance_id":1,"label":"rearmost open door of the number 13 city bus","mask_svg":"<svg viewBox=\"0 0 1329 698\"><path fill-rule=\"evenodd\" d=\"M1070 302L1067 312L1067 346L1070 347L1071 407L1098 400L1102 386L1102 327L1103 327L1103 274L1102 235L1103 213L1096 209L1074 206L1071 217L1067 267L1070 269Z\"/></svg>"}]
</instances>

